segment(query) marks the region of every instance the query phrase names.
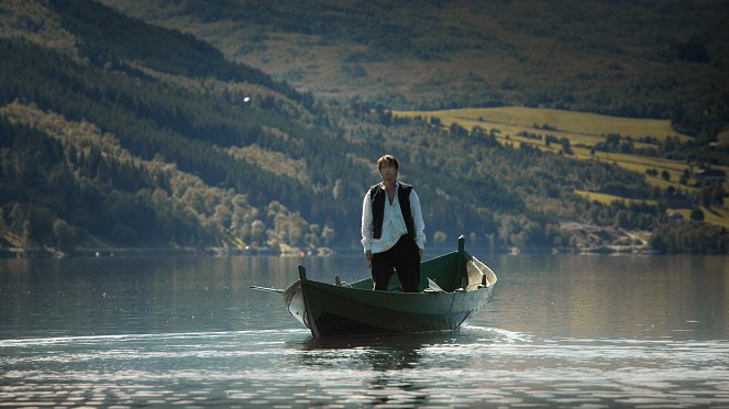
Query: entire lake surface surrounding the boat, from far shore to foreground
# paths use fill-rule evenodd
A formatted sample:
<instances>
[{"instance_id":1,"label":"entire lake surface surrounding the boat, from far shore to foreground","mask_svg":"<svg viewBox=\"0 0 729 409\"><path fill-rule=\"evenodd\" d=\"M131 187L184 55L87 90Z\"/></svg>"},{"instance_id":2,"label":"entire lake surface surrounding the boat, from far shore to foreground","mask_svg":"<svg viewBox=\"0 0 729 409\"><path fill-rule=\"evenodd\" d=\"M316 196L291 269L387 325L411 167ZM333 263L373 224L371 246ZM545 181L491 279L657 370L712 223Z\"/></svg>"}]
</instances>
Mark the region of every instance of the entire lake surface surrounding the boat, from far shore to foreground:
<instances>
[{"instance_id":1,"label":"entire lake surface surrounding the boat, from far shore to foreground","mask_svg":"<svg viewBox=\"0 0 729 409\"><path fill-rule=\"evenodd\" d=\"M460 332L342 342L247 287L358 254L0 259L0 406L729 406L729 258L481 258Z\"/></svg>"}]
</instances>

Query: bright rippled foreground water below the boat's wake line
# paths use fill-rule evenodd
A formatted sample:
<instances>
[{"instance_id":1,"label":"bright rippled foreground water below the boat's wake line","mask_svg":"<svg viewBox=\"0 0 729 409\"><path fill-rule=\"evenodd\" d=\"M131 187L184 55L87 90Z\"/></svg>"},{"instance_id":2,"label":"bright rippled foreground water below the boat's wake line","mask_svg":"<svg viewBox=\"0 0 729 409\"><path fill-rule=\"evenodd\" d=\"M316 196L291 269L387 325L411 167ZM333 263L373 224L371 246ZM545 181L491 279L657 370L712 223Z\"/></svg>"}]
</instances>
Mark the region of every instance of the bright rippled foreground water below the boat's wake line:
<instances>
[{"instance_id":1,"label":"bright rippled foreground water below the boat's wake line","mask_svg":"<svg viewBox=\"0 0 729 409\"><path fill-rule=\"evenodd\" d=\"M305 330L0 341L0 405L729 405L729 342L501 329L314 342Z\"/></svg>"}]
</instances>

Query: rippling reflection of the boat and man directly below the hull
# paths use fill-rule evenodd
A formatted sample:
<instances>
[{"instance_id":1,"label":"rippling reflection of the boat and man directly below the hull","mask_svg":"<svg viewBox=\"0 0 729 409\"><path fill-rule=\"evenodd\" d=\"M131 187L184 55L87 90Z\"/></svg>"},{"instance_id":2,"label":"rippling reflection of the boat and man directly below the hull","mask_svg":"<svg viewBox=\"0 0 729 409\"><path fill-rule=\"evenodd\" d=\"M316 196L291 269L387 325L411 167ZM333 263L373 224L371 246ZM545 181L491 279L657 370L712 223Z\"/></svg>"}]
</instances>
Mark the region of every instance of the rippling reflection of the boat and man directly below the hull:
<instances>
[{"instance_id":1,"label":"rippling reflection of the boat and man directly below the hull","mask_svg":"<svg viewBox=\"0 0 729 409\"><path fill-rule=\"evenodd\" d=\"M358 393L347 396L342 404L411 407L477 401L449 391L460 380L457 376L453 378L444 374L467 372L472 366L484 364L483 356L479 356L482 346L504 339L504 335L490 329L468 328L448 333L384 335L376 339L309 339L290 345L301 351L299 362L302 367L340 375L343 371L354 371L354 377L362 385ZM342 380L340 377L335 383L338 387L341 387ZM448 386L443 384L439 388L442 380Z\"/></svg>"}]
</instances>

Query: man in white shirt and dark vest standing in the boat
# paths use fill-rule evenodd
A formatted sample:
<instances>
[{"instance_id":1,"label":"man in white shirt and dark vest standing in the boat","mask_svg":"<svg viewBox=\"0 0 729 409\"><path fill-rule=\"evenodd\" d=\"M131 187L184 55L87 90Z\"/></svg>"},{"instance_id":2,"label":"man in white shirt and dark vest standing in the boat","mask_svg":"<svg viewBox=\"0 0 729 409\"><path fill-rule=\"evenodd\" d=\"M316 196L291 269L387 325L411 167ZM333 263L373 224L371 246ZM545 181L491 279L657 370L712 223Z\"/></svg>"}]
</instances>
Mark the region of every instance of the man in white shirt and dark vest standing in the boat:
<instances>
[{"instance_id":1,"label":"man in white shirt and dark vest standing in the boat","mask_svg":"<svg viewBox=\"0 0 729 409\"><path fill-rule=\"evenodd\" d=\"M376 290L387 291L393 270L407 292L418 292L420 258L426 243L420 199L410 185L397 180L393 155L377 161L383 181L371 187L362 203L362 245Z\"/></svg>"}]
</instances>

